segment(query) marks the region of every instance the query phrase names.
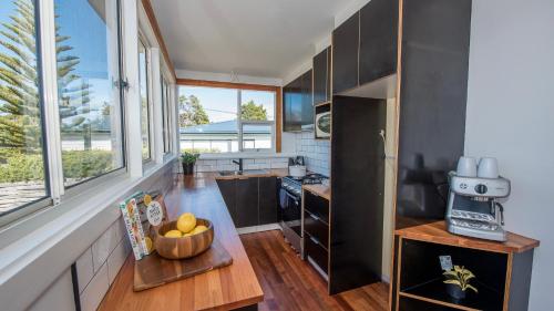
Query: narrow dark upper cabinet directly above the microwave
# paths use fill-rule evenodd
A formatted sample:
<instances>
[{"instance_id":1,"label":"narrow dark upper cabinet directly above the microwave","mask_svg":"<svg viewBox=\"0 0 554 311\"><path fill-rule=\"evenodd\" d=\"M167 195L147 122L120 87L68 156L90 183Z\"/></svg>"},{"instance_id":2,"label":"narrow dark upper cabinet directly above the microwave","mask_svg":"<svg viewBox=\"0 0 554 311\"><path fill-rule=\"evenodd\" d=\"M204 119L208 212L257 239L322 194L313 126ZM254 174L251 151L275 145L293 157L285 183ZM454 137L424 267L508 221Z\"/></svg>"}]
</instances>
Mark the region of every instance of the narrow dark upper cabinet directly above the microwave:
<instances>
[{"instance_id":1,"label":"narrow dark upper cabinet directly above the microwave","mask_svg":"<svg viewBox=\"0 0 554 311\"><path fill-rule=\"evenodd\" d=\"M314 58L314 105L331 100L331 48Z\"/></svg>"}]
</instances>

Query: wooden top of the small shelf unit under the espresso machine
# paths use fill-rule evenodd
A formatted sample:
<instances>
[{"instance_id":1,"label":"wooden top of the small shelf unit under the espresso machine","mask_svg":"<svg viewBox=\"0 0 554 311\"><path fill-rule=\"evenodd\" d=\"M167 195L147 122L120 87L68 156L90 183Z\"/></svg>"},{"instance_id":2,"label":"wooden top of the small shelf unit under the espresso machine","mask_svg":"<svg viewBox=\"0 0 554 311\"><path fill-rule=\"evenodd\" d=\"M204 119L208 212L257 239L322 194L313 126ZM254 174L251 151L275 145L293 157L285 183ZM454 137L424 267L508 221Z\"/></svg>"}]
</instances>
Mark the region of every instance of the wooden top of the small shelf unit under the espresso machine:
<instances>
[{"instance_id":1,"label":"wooden top of the small shelf unit under the espresso machine","mask_svg":"<svg viewBox=\"0 0 554 311\"><path fill-rule=\"evenodd\" d=\"M507 241L495 242L483 239L452 235L447 230L444 220L398 229L394 235L403 238L442 245L466 247L495 252L524 252L538 247L538 241L516 234L507 232Z\"/></svg>"}]
</instances>

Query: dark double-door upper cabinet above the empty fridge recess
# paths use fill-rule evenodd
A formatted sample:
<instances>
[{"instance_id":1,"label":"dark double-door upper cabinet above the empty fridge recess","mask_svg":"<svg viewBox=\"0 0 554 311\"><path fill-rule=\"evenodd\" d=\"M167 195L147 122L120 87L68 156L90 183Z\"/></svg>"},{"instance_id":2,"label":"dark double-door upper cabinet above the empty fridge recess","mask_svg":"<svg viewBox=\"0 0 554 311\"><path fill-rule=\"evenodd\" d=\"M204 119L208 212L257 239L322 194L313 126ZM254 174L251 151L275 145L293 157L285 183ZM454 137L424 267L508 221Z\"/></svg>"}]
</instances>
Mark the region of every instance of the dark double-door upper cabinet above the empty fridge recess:
<instances>
[{"instance_id":1,"label":"dark double-door upper cabinet above the empty fridge recess","mask_svg":"<svg viewBox=\"0 0 554 311\"><path fill-rule=\"evenodd\" d=\"M394 0L371 0L334 31L334 94L376 99L394 95L398 8ZM377 80L380 83L370 84Z\"/></svg>"}]
</instances>

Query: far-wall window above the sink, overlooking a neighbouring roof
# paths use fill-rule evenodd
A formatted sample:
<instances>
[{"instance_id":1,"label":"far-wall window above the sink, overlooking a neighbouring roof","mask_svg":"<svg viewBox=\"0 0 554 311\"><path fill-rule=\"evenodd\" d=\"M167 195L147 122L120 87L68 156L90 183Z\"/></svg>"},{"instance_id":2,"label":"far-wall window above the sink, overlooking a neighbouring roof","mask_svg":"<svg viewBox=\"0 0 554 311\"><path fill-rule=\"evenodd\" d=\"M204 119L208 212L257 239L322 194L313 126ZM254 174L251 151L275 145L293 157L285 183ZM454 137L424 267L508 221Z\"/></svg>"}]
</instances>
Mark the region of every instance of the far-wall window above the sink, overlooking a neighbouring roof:
<instances>
[{"instance_id":1,"label":"far-wall window above the sink, overlooking a neighbouring roof","mask_svg":"<svg viewBox=\"0 0 554 311\"><path fill-rule=\"evenodd\" d=\"M181 151L275 151L275 91L181 86Z\"/></svg>"}]
</instances>

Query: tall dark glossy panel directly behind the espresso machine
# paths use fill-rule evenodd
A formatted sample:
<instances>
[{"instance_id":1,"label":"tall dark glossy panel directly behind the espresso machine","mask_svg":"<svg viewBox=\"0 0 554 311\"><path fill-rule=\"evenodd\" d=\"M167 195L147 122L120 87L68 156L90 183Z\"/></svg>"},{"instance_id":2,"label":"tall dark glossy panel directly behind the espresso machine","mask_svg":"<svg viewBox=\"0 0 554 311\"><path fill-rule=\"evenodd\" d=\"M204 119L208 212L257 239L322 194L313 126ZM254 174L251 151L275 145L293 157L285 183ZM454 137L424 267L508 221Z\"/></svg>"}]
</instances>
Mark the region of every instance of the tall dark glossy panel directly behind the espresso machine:
<instances>
[{"instance_id":1,"label":"tall dark glossy panel directly behind the espresso machine","mask_svg":"<svg viewBox=\"0 0 554 311\"><path fill-rule=\"evenodd\" d=\"M397 229L444 218L464 147L471 0L403 0L402 25Z\"/></svg>"}]
</instances>

